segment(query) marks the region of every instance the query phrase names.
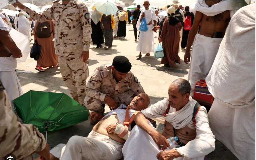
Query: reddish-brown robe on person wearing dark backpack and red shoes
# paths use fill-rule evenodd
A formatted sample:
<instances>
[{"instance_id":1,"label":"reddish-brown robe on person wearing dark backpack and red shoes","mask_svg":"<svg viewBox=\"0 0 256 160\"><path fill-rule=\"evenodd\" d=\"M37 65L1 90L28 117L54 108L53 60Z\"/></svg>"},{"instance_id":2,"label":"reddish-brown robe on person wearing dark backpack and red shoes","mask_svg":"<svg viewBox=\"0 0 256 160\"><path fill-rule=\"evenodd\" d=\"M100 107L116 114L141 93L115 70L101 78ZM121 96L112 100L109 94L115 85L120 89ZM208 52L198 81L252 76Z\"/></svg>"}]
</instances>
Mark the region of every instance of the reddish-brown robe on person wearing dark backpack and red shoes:
<instances>
[{"instance_id":1,"label":"reddish-brown robe on person wearing dark backpack and red shoes","mask_svg":"<svg viewBox=\"0 0 256 160\"><path fill-rule=\"evenodd\" d=\"M37 65L43 67L55 66L58 63L58 56L55 54L54 42L52 41L54 38L54 20L50 20L48 23L50 23L50 31L52 32L49 38L36 37L36 28L39 24L38 21L36 22L34 32L32 33L34 35L34 40L37 40L38 44L41 46L41 54L37 60Z\"/></svg>"}]
</instances>

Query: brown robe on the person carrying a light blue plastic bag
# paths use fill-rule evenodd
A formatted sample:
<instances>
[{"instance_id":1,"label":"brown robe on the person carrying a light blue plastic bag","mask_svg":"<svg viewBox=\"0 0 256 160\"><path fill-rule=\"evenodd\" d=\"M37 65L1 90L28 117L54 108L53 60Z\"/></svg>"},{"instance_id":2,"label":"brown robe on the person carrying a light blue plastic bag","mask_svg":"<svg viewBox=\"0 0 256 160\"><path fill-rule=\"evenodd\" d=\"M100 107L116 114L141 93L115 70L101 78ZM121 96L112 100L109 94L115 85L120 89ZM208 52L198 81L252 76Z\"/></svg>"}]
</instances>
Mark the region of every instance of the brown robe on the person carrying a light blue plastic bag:
<instances>
[{"instance_id":1,"label":"brown robe on the person carrying a light blue plastic bag","mask_svg":"<svg viewBox=\"0 0 256 160\"><path fill-rule=\"evenodd\" d=\"M176 63L180 63L178 56L179 52L179 31L182 29L181 23L177 23L174 26L169 25L169 18L166 18L163 22L163 29L160 35L162 38L163 58L161 64L170 64L170 67L175 66Z\"/></svg>"}]
</instances>

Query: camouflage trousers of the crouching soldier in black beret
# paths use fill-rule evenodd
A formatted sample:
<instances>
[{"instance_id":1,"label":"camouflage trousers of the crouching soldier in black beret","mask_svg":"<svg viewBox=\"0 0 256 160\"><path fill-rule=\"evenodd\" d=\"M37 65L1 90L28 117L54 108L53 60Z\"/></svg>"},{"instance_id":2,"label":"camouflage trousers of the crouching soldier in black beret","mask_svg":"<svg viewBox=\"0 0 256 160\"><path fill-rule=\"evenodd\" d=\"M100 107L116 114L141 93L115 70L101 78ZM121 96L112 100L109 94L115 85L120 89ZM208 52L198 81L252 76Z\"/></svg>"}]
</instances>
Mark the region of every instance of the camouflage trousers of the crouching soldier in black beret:
<instances>
[{"instance_id":1,"label":"camouflage trousers of the crouching soldier in black beret","mask_svg":"<svg viewBox=\"0 0 256 160\"><path fill-rule=\"evenodd\" d=\"M131 89L128 89L123 93L110 97L112 97L116 101L118 106L120 106L121 104L125 104L126 106L128 106L136 95L137 94L134 93ZM90 96L85 96L84 106L90 111L103 112L103 104L106 104L106 102Z\"/></svg>"}]
</instances>

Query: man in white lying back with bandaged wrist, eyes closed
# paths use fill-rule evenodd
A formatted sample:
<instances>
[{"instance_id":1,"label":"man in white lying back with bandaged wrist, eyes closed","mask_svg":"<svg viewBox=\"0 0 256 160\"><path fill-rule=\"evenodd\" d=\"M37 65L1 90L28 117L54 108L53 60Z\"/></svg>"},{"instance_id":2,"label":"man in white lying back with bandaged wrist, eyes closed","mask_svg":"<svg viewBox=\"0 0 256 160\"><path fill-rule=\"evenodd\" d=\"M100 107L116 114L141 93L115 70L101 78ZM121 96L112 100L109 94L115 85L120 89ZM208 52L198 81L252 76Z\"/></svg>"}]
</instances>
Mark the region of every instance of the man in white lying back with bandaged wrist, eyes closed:
<instances>
[{"instance_id":1,"label":"man in white lying back with bandaged wrist, eyes closed","mask_svg":"<svg viewBox=\"0 0 256 160\"><path fill-rule=\"evenodd\" d=\"M149 104L149 96L140 93L133 98L127 108L121 105L105 117L99 112L93 112L90 120L103 118L93 127L91 133L87 137L72 136L67 145L58 144L50 150L50 159L118 160L122 158L124 139L128 138L131 131L133 117L138 111L146 109Z\"/></svg>"}]
</instances>

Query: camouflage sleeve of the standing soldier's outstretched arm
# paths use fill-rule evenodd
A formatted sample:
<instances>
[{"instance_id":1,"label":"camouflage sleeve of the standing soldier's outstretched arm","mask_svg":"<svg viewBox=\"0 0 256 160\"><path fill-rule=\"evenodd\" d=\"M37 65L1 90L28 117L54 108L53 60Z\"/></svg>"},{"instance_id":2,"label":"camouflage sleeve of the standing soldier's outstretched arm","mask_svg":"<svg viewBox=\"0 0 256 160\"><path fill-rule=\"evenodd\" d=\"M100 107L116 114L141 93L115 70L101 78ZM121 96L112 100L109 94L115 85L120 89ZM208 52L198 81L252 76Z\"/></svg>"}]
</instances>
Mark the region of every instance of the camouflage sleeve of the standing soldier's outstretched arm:
<instances>
[{"instance_id":1,"label":"camouflage sleeve of the standing soldier's outstretched arm","mask_svg":"<svg viewBox=\"0 0 256 160\"><path fill-rule=\"evenodd\" d=\"M51 5L50 8L48 8L46 11L43 11L42 13L36 13L35 11L31 10L28 7L24 7L22 9L25 11L28 15L30 15L31 18L36 19L38 22L47 22L51 19L53 19L53 6Z\"/></svg>"}]
</instances>

